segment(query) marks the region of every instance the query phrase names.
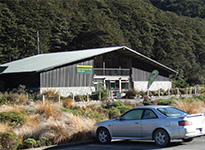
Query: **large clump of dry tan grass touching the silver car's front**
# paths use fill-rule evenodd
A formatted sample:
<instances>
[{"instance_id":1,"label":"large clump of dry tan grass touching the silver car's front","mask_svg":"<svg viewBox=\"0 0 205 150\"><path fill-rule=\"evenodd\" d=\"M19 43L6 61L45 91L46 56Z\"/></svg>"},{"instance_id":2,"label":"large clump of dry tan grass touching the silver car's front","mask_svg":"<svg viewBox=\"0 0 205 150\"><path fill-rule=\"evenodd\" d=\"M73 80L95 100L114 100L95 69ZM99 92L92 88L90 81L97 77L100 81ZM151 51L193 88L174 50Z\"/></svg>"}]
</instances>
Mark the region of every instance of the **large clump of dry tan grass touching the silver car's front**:
<instances>
[{"instance_id":1,"label":"large clump of dry tan grass touching the silver car's front","mask_svg":"<svg viewBox=\"0 0 205 150\"><path fill-rule=\"evenodd\" d=\"M33 136L47 137L54 144L64 143L65 141L79 141L91 136L90 132L94 123L93 120L64 113L57 120L49 118L41 122Z\"/></svg>"}]
</instances>

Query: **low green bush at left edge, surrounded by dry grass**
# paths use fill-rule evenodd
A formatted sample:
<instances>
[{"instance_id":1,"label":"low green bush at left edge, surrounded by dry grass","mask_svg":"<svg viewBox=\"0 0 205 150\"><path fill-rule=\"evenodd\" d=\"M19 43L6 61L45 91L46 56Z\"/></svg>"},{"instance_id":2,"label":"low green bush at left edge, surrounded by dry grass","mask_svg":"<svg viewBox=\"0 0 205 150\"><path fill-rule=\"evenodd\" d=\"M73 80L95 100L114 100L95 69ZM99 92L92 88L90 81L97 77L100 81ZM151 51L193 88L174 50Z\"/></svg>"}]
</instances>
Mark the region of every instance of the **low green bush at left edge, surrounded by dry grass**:
<instances>
[{"instance_id":1,"label":"low green bush at left edge, surrounded by dry grass","mask_svg":"<svg viewBox=\"0 0 205 150\"><path fill-rule=\"evenodd\" d=\"M8 123L8 125L12 127L22 126L25 121L25 118L26 116L24 114L16 111L0 113L0 121Z\"/></svg>"}]
</instances>

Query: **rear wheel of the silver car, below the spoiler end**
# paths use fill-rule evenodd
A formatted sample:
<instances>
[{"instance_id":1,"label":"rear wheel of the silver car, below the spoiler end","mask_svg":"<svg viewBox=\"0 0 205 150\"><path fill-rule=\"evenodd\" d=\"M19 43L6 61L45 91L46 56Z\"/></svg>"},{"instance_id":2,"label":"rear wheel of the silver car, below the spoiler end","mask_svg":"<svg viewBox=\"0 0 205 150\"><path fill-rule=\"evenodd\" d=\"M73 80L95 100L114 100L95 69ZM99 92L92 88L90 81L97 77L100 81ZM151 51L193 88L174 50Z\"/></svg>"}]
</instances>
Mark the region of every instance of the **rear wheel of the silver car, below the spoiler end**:
<instances>
[{"instance_id":1,"label":"rear wheel of the silver car, below the spoiler end","mask_svg":"<svg viewBox=\"0 0 205 150\"><path fill-rule=\"evenodd\" d=\"M163 129L158 129L154 132L154 141L157 146L164 147L170 143L169 134Z\"/></svg>"}]
</instances>

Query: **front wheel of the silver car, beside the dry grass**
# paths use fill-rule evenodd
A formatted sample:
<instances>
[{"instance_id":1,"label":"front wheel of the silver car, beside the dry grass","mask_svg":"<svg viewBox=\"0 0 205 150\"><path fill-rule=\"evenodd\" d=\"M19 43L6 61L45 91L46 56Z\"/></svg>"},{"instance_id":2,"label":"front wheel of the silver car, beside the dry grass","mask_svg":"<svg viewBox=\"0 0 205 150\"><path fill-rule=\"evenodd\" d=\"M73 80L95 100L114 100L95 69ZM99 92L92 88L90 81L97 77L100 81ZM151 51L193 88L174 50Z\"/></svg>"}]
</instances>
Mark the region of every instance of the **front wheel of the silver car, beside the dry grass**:
<instances>
[{"instance_id":1,"label":"front wheel of the silver car, beside the dry grass","mask_svg":"<svg viewBox=\"0 0 205 150\"><path fill-rule=\"evenodd\" d=\"M110 133L105 128L100 128L97 132L98 141L102 144L108 144L111 141Z\"/></svg>"}]
</instances>

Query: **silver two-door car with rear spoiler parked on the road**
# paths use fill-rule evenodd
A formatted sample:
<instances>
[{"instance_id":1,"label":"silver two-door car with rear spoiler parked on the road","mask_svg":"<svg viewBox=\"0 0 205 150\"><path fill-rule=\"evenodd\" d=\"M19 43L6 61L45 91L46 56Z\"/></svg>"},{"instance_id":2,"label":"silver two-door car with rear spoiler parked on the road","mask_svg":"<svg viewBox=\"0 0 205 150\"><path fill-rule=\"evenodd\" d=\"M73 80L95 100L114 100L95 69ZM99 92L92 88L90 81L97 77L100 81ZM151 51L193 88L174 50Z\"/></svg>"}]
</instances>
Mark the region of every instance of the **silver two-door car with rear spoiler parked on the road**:
<instances>
[{"instance_id":1,"label":"silver two-door car with rear spoiler parked on the road","mask_svg":"<svg viewBox=\"0 0 205 150\"><path fill-rule=\"evenodd\" d=\"M103 143L112 139L154 140L163 147L172 139L190 142L205 134L204 114L190 115L170 106L143 106L95 124L93 134Z\"/></svg>"}]
</instances>

